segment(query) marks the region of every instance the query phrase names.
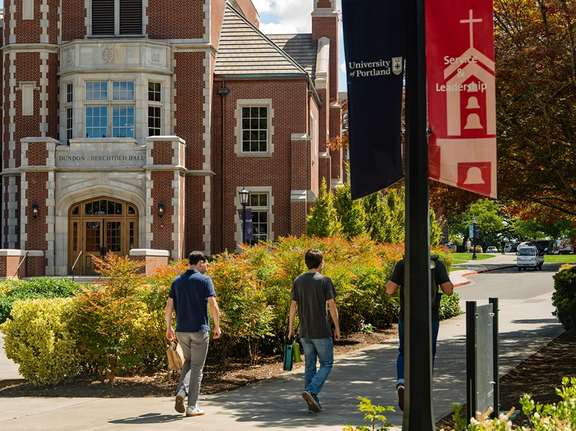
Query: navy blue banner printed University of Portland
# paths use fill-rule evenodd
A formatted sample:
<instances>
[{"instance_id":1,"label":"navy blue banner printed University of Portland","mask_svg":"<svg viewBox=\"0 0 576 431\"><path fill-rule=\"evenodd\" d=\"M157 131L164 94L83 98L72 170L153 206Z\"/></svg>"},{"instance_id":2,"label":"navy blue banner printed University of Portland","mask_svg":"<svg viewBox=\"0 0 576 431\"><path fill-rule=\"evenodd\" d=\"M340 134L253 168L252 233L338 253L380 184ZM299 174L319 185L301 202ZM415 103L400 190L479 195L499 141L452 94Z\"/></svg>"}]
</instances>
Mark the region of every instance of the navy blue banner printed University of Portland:
<instances>
[{"instance_id":1,"label":"navy blue banner printed University of Portland","mask_svg":"<svg viewBox=\"0 0 576 431\"><path fill-rule=\"evenodd\" d=\"M352 198L403 178L404 2L342 0Z\"/></svg>"}]
</instances>

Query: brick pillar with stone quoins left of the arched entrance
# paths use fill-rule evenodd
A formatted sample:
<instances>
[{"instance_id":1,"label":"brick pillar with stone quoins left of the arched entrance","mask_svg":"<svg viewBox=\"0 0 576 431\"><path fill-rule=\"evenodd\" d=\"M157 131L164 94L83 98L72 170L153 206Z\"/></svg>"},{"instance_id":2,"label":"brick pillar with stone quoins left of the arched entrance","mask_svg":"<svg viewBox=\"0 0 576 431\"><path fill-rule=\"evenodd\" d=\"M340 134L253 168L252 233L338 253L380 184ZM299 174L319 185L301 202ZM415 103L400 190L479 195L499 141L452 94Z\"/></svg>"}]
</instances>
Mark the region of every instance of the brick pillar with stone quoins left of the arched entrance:
<instances>
[{"instance_id":1,"label":"brick pillar with stone quoins left of the arched entrance","mask_svg":"<svg viewBox=\"0 0 576 431\"><path fill-rule=\"evenodd\" d=\"M45 274L54 275L54 170L52 138L21 139L21 248L45 251ZM33 207L38 205L34 217Z\"/></svg>"}]
</instances>

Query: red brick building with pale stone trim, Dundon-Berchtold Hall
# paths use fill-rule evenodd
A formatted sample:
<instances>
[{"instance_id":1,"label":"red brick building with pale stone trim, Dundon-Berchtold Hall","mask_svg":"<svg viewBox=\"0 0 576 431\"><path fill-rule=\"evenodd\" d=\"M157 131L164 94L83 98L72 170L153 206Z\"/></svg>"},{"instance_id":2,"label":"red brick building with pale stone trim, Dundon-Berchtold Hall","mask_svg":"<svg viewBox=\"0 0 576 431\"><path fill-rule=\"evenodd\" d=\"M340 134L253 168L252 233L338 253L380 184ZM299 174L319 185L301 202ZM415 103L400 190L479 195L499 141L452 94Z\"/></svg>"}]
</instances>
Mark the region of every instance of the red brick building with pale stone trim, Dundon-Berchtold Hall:
<instances>
[{"instance_id":1,"label":"red brick building with pale stone trim, Dundon-Berchtold Hall","mask_svg":"<svg viewBox=\"0 0 576 431\"><path fill-rule=\"evenodd\" d=\"M312 34L265 36L251 0L5 0L0 261L237 249L243 187L255 240L304 233L344 174L336 1L310 1Z\"/></svg>"}]
</instances>

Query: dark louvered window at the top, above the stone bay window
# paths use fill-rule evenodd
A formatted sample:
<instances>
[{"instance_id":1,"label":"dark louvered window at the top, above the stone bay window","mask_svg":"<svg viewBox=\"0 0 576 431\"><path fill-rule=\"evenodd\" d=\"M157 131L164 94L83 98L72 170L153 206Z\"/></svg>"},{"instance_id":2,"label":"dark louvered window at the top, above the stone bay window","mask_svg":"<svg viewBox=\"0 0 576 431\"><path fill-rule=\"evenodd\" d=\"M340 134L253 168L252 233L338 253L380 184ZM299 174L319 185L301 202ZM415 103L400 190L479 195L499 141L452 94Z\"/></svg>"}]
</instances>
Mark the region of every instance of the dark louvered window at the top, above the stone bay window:
<instances>
[{"instance_id":1,"label":"dark louvered window at the top, above the stone bay window","mask_svg":"<svg viewBox=\"0 0 576 431\"><path fill-rule=\"evenodd\" d=\"M93 36L142 34L142 0L92 0Z\"/></svg>"}]
</instances>

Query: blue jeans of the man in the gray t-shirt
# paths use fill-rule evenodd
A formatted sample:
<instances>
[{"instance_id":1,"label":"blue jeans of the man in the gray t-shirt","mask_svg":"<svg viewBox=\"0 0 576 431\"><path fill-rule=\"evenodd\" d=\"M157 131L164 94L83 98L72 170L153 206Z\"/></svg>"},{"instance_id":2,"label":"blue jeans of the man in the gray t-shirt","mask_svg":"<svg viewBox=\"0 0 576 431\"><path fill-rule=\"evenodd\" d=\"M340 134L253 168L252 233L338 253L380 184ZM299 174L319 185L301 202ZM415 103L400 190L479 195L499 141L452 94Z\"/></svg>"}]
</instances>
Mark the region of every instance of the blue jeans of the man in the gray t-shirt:
<instances>
[{"instance_id":1,"label":"blue jeans of the man in the gray t-shirt","mask_svg":"<svg viewBox=\"0 0 576 431\"><path fill-rule=\"evenodd\" d=\"M322 386L332 370L334 363L334 345L332 338L300 338L304 349L304 389L314 395L322 391ZM316 371L316 358L320 369Z\"/></svg>"}]
</instances>

